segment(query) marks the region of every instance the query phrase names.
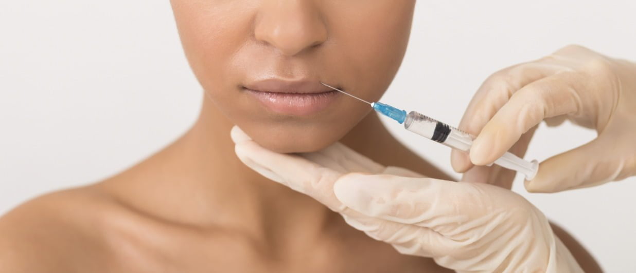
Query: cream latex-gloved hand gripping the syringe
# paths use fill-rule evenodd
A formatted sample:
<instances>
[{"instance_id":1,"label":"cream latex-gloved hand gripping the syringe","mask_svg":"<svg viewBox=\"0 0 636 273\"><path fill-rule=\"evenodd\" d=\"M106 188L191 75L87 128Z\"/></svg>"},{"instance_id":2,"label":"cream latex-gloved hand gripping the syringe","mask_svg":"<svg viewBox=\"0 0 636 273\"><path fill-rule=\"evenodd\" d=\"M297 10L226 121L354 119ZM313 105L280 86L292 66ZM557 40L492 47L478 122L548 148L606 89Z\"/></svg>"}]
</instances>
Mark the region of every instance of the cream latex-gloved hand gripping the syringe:
<instances>
[{"instance_id":1,"label":"cream latex-gloved hand gripping the syringe","mask_svg":"<svg viewBox=\"0 0 636 273\"><path fill-rule=\"evenodd\" d=\"M636 175L636 64L567 46L534 62L490 76L469 104L459 129L478 137L469 155L453 150L452 165L465 172L495 161L546 119L565 119L598 137L539 165L525 187L557 192ZM529 133L531 135L532 133Z\"/></svg>"}]
</instances>

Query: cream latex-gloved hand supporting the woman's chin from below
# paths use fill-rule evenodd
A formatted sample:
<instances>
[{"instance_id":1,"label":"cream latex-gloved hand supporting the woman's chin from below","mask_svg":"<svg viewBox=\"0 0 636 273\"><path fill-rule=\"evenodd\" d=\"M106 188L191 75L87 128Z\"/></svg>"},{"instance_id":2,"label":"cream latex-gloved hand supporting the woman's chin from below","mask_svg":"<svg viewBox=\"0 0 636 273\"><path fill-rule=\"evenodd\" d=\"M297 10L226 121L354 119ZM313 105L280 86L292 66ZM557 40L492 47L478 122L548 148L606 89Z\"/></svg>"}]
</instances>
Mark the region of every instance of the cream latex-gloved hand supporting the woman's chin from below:
<instances>
[{"instance_id":1,"label":"cream latex-gloved hand supporting the woman's chin from below","mask_svg":"<svg viewBox=\"0 0 636 273\"><path fill-rule=\"evenodd\" d=\"M385 168L342 143L290 155L264 149L237 127L232 139L247 166L400 253L460 272L582 272L543 213L509 190Z\"/></svg>"}]
</instances>

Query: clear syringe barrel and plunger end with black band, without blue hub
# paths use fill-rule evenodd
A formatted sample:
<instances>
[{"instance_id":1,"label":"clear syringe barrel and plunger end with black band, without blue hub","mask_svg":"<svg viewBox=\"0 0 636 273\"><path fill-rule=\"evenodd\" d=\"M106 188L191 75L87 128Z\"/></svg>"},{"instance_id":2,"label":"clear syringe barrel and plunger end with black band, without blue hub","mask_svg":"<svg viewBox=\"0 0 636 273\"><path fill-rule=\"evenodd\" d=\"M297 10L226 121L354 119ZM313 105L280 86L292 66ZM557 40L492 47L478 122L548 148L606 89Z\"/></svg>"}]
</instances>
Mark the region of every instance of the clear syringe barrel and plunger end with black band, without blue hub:
<instances>
[{"instance_id":1,"label":"clear syringe barrel and plunger end with black band, without blue hub","mask_svg":"<svg viewBox=\"0 0 636 273\"><path fill-rule=\"evenodd\" d=\"M467 152L473 145L473 136L455 127L448 126L431 117L424 116L418 112L411 111L404 120L404 128L406 130L417 133L422 137L429 138L436 142L442 143L448 147ZM539 164L537 161L525 161L510 152L506 152L502 157L495 161L495 164L506 169L515 170L525 175L527 180L532 180L537 174Z\"/></svg>"}]
</instances>

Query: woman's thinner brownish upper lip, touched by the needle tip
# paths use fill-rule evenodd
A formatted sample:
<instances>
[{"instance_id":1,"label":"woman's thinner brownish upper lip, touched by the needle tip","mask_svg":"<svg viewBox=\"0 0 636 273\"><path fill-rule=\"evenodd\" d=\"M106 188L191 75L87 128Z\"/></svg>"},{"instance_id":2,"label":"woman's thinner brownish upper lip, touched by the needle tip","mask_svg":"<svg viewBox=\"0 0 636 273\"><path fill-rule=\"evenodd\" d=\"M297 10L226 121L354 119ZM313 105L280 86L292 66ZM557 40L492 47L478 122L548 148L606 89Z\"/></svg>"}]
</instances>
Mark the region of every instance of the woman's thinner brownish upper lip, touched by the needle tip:
<instances>
[{"instance_id":1,"label":"woman's thinner brownish upper lip, touched by the needle tip","mask_svg":"<svg viewBox=\"0 0 636 273\"><path fill-rule=\"evenodd\" d=\"M282 79L264 79L261 81L255 81L245 84L244 88L261 92L300 94L315 94L333 91L331 88L320 84L320 81L286 81Z\"/></svg>"}]
</instances>

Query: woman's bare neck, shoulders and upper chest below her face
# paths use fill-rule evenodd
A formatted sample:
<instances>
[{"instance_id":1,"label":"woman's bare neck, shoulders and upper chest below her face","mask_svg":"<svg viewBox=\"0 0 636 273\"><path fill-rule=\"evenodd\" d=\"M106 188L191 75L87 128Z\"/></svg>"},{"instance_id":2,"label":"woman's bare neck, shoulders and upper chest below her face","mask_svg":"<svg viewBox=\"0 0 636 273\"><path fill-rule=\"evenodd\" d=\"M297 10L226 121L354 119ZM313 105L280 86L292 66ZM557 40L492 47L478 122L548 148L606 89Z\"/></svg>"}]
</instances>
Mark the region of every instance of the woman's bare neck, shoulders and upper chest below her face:
<instances>
[{"instance_id":1,"label":"woman's bare neck, shoulders and upper chest below her face","mask_svg":"<svg viewBox=\"0 0 636 273\"><path fill-rule=\"evenodd\" d=\"M399 255L249 170L234 155L232 125L206 100L195 126L146 161L3 216L0 271L446 271L431 259ZM391 137L374 114L343 142L382 164L449 178ZM598 269L576 241L560 237L582 265Z\"/></svg>"}]
</instances>

